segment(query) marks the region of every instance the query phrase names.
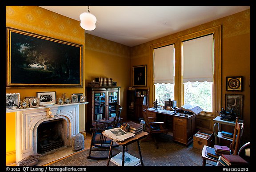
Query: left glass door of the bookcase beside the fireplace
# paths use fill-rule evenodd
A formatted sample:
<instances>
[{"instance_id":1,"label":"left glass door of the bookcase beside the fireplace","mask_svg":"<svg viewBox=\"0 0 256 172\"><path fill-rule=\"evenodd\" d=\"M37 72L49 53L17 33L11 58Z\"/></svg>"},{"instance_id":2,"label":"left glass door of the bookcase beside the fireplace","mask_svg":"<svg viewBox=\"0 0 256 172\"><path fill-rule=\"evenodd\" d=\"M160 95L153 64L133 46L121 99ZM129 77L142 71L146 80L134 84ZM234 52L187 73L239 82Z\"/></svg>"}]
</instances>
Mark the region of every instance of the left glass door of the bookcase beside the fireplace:
<instances>
[{"instance_id":1,"label":"left glass door of the bookcase beside the fireplace","mask_svg":"<svg viewBox=\"0 0 256 172\"><path fill-rule=\"evenodd\" d=\"M106 95L103 92L94 93L94 115L93 121L105 119L106 114Z\"/></svg>"}]
</instances>

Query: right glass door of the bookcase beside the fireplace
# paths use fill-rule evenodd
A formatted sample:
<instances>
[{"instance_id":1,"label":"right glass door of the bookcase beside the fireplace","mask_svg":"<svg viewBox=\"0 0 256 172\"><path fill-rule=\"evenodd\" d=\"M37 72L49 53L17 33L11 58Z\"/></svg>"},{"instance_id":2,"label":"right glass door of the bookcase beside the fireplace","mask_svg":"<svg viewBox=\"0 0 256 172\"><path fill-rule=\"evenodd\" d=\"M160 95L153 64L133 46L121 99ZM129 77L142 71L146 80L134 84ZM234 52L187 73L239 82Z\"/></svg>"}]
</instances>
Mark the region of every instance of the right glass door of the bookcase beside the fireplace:
<instances>
[{"instance_id":1,"label":"right glass door of the bookcase beside the fireplace","mask_svg":"<svg viewBox=\"0 0 256 172\"><path fill-rule=\"evenodd\" d=\"M116 105L118 102L118 92L109 91L108 92L108 117L116 116Z\"/></svg>"}]
</instances>

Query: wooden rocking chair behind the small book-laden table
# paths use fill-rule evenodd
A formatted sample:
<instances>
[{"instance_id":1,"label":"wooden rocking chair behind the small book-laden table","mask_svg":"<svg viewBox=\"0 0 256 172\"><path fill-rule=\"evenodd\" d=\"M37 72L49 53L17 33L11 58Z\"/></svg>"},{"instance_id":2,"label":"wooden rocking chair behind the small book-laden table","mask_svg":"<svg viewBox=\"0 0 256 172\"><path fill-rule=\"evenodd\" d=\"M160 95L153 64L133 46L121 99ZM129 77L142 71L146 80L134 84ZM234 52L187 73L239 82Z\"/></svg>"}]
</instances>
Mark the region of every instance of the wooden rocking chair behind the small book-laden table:
<instances>
[{"instance_id":1,"label":"wooden rocking chair behind the small book-laden table","mask_svg":"<svg viewBox=\"0 0 256 172\"><path fill-rule=\"evenodd\" d=\"M110 149L111 140L105 137L102 132L107 129L112 129L116 127L120 127L120 114L123 107L120 105L116 106L116 117L113 121L96 121L95 128L91 128L92 131L92 138L91 138L91 145L89 150L89 155L87 156L88 159L92 160L105 160L108 159L108 156L92 156L92 151L108 151ZM92 147L94 148L92 149ZM113 147L117 147L119 145L114 145Z\"/></svg>"}]
</instances>

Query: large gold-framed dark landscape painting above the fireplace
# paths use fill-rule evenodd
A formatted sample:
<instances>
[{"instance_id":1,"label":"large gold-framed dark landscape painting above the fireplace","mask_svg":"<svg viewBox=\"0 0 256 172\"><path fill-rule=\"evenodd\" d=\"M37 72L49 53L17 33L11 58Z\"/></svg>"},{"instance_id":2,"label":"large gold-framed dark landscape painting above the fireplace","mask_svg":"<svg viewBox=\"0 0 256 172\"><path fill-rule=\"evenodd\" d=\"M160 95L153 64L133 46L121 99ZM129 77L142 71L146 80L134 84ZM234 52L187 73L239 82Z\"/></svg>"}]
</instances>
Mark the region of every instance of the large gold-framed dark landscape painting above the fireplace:
<instances>
[{"instance_id":1,"label":"large gold-framed dark landscape painting above the fireplace","mask_svg":"<svg viewBox=\"0 0 256 172\"><path fill-rule=\"evenodd\" d=\"M82 45L9 27L6 31L6 86L82 86Z\"/></svg>"}]
</instances>

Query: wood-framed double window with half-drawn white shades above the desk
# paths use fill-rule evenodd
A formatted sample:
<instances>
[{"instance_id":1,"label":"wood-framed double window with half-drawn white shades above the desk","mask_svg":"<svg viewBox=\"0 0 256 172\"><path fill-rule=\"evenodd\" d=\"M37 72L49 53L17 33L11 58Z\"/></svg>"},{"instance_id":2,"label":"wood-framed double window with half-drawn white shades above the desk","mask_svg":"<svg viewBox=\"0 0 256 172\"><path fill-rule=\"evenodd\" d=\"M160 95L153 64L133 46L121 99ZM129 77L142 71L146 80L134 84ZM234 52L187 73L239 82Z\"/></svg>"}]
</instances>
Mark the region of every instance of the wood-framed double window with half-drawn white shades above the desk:
<instances>
[{"instance_id":1,"label":"wood-framed double window with half-drawn white shades above the desk","mask_svg":"<svg viewBox=\"0 0 256 172\"><path fill-rule=\"evenodd\" d=\"M190 103L202 107L201 114L216 116L221 105L216 101L221 90L220 27L151 46L153 101L163 101L164 105L164 100L171 98L179 107ZM169 50L164 51L167 47Z\"/></svg>"}]
</instances>

